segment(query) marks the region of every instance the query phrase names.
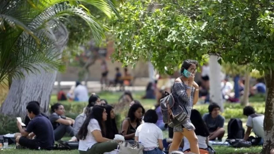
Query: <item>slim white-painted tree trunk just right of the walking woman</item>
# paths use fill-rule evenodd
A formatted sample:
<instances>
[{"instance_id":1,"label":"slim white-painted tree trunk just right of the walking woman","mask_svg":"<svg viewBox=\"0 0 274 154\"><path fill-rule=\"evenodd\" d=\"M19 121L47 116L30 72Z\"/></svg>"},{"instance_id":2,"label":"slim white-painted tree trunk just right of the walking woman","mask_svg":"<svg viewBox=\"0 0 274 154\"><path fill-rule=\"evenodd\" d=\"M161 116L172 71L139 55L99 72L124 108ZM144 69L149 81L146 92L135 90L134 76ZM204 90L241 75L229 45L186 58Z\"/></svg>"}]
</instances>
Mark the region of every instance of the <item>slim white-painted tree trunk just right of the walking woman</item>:
<instances>
[{"instance_id":1,"label":"slim white-painted tree trunk just right of the walking woman","mask_svg":"<svg viewBox=\"0 0 274 154\"><path fill-rule=\"evenodd\" d=\"M218 59L219 57L216 55L210 55L209 57L209 94L210 100L217 103L221 107L221 111L224 111L221 92L221 65L218 63Z\"/></svg>"}]
</instances>

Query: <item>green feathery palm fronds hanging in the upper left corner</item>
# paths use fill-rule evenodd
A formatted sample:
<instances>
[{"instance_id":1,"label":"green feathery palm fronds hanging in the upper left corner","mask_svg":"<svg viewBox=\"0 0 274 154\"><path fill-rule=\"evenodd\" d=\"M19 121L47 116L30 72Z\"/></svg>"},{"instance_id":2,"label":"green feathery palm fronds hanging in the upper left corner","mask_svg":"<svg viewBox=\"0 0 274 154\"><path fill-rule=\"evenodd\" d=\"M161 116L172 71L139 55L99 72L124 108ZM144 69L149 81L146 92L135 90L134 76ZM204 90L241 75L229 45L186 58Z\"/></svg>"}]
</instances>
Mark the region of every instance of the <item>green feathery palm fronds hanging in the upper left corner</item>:
<instances>
[{"instance_id":1,"label":"green feathery palm fronds hanging in the upper left corner","mask_svg":"<svg viewBox=\"0 0 274 154\"><path fill-rule=\"evenodd\" d=\"M79 1L89 3L110 16L110 3L104 0ZM81 7L79 1L21 0L12 6L8 5L13 2L11 0L0 2L0 81L6 76L23 77L23 70L32 73L39 72L40 68L63 71L60 49L57 48L60 40L53 31L62 25L59 20L65 20L67 16L83 19L96 41L104 38L104 25L96 21L84 6ZM65 37L60 44L66 41Z\"/></svg>"}]
</instances>

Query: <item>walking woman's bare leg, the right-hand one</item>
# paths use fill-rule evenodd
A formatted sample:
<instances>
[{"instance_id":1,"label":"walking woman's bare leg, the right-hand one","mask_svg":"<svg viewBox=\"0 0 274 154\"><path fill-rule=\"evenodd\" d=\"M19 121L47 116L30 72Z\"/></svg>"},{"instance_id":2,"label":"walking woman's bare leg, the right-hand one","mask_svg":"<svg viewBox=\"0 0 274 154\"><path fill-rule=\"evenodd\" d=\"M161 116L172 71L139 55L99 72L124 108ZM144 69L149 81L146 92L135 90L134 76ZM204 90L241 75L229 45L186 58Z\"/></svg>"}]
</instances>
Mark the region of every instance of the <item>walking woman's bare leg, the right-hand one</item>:
<instances>
[{"instance_id":1,"label":"walking woman's bare leg, the right-hand one","mask_svg":"<svg viewBox=\"0 0 274 154\"><path fill-rule=\"evenodd\" d=\"M188 130L183 128L183 136L185 136L190 144L190 150L192 153L200 154L199 146L198 146L198 138L194 132L194 130Z\"/></svg>"}]
</instances>

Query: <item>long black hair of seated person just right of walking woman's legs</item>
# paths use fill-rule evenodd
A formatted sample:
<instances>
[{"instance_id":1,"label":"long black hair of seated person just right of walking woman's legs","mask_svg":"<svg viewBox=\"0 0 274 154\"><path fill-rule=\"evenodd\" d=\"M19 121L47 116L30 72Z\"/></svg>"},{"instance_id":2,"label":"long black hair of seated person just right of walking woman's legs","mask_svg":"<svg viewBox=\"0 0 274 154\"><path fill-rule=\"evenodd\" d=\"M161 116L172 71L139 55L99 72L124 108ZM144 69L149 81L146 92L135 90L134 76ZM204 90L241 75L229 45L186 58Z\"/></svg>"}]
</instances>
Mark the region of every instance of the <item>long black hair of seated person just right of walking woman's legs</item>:
<instances>
[{"instance_id":1,"label":"long black hair of seated person just right of walking woman's legs","mask_svg":"<svg viewBox=\"0 0 274 154\"><path fill-rule=\"evenodd\" d=\"M209 136L207 126L198 110L193 109L190 115L191 123L195 126L195 134L203 137Z\"/></svg>"}]
</instances>

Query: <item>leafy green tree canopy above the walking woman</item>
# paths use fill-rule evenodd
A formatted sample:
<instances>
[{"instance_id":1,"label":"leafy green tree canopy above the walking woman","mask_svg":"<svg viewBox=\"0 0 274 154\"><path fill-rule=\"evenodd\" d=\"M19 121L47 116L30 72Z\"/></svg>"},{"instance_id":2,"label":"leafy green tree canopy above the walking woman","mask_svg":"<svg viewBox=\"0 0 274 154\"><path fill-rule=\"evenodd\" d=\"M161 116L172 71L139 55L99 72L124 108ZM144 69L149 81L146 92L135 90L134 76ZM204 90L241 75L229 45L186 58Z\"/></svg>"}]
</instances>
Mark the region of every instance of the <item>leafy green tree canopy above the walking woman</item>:
<instances>
[{"instance_id":1,"label":"leafy green tree canopy above the walking woman","mask_svg":"<svg viewBox=\"0 0 274 154\"><path fill-rule=\"evenodd\" d=\"M168 73L182 60L201 60L203 54L249 64L261 72L273 69L272 4L259 0L129 0L119 8L121 16L114 25L118 47L114 58L126 65L151 60L157 70Z\"/></svg>"}]
</instances>

